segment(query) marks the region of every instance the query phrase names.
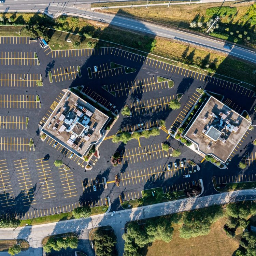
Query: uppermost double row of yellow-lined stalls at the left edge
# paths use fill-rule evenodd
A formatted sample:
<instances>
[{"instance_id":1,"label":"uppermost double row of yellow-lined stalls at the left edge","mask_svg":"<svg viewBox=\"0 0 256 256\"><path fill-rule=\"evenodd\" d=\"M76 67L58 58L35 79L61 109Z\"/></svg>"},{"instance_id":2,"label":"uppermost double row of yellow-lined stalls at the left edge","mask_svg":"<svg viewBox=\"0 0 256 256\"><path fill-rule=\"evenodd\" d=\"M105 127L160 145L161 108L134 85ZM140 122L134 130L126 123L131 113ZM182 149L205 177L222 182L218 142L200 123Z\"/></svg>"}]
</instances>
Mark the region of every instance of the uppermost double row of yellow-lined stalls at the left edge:
<instances>
[{"instance_id":1,"label":"uppermost double row of yellow-lined stalls at the left edge","mask_svg":"<svg viewBox=\"0 0 256 256\"><path fill-rule=\"evenodd\" d=\"M32 52L1 52L1 65L34 66L37 65L37 58Z\"/></svg>"}]
</instances>

